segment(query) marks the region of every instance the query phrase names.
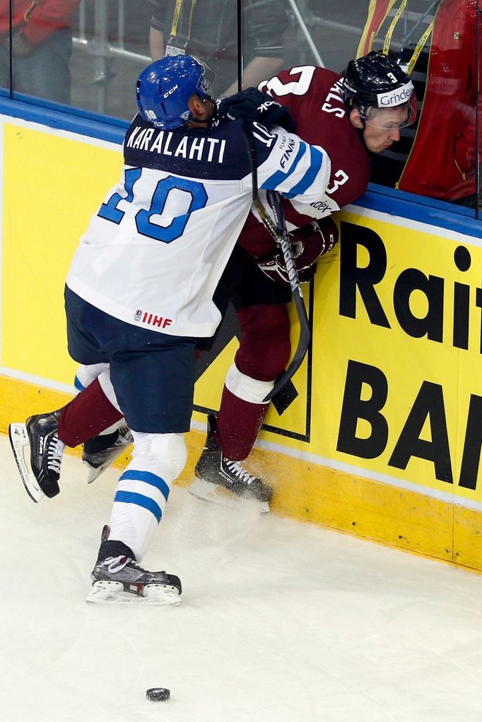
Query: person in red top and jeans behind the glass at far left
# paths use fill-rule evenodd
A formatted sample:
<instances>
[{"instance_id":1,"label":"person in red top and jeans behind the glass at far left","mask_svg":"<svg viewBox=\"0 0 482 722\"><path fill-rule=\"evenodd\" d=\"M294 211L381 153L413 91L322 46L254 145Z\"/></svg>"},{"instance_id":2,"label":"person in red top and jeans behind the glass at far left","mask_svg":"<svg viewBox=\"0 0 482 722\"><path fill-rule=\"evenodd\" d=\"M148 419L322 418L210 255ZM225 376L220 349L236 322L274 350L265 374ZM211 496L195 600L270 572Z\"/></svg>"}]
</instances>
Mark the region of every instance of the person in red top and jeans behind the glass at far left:
<instances>
[{"instance_id":1,"label":"person in red top and jeans behind the glass at far left","mask_svg":"<svg viewBox=\"0 0 482 722\"><path fill-rule=\"evenodd\" d=\"M14 92L70 103L70 18L80 0L13 0ZM10 87L10 2L0 0L0 85Z\"/></svg>"}]
</instances>

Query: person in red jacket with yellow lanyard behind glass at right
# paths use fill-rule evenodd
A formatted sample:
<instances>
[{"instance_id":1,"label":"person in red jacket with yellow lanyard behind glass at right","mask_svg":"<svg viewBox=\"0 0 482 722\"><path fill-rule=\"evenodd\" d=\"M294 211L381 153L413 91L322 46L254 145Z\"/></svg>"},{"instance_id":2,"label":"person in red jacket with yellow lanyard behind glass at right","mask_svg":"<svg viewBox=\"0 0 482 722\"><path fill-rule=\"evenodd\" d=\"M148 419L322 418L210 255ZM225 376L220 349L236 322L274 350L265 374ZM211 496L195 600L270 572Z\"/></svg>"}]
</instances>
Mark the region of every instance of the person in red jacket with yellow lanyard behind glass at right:
<instances>
[{"instance_id":1,"label":"person in red jacket with yellow lanyard behind glass at right","mask_svg":"<svg viewBox=\"0 0 482 722\"><path fill-rule=\"evenodd\" d=\"M477 0L374 0L358 56L379 50L413 81L418 124L372 159L371 180L475 205Z\"/></svg>"}]
</instances>

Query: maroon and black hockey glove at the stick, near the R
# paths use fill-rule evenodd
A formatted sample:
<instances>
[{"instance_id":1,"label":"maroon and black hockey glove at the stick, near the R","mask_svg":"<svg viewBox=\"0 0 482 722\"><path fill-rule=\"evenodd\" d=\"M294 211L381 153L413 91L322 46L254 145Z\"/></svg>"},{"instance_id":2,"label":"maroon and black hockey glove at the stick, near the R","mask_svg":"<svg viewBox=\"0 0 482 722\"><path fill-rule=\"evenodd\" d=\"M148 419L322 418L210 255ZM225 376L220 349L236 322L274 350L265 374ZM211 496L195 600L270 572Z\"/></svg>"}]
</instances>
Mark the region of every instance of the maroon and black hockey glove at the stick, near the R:
<instances>
[{"instance_id":1,"label":"maroon and black hockey glove at the stick, near the R","mask_svg":"<svg viewBox=\"0 0 482 722\"><path fill-rule=\"evenodd\" d=\"M331 218L322 218L311 221L302 228L297 228L289 235L298 277L301 283L311 281L317 272L317 259L324 256L324 253L331 251L335 243L337 243L337 226ZM280 248L275 248L266 256L260 256L254 260L259 269L272 281L278 283L290 282Z\"/></svg>"}]
</instances>

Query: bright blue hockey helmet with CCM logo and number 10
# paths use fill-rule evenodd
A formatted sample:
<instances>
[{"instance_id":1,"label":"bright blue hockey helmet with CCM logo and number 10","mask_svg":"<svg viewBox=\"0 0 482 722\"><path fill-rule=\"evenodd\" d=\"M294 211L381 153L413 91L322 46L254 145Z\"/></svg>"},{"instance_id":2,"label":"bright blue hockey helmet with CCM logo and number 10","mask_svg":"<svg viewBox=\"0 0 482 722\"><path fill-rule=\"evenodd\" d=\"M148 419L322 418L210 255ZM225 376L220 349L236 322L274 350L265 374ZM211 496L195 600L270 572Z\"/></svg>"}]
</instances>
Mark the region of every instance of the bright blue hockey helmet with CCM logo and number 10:
<instances>
[{"instance_id":1,"label":"bright blue hockey helmet with CCM logo and number 10","mask_svg":"<svg viewBox=\"0 0 482 722\"><path fill-rule=\"evenodd\" d=\"M147 66L137 79L137 108L142 118L164 130L191 120L187 101L209 98L214 73L190 55L171 55Z\"/></svg>"}]
</instances>

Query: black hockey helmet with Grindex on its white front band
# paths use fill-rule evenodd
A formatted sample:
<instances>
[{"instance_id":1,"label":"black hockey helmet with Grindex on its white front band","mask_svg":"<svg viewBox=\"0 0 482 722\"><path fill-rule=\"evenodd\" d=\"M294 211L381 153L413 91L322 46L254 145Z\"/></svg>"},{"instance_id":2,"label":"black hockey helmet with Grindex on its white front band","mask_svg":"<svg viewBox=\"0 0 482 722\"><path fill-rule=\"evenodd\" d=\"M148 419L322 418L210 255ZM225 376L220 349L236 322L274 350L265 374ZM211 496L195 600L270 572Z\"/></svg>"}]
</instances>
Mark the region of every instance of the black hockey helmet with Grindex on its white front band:
<instances>
[{"instance_id":1,"label":"black hockey helmet with Grindex on its white front band","mask_svg":"<svg viewBox=\"0 0 482 722\"><path fill-rule=\"evenodd\" d=\"M405 108L406 117L400 118L398 127L404 128L415 121L417 100L410 77L391 58L372 51L348 63L343 78L343 100L348 108L356 105L363 123L373 122L384 127L387 114L379 110ZM392 127L392 124L390 124Z\"/></svg>"}]
</instances>

